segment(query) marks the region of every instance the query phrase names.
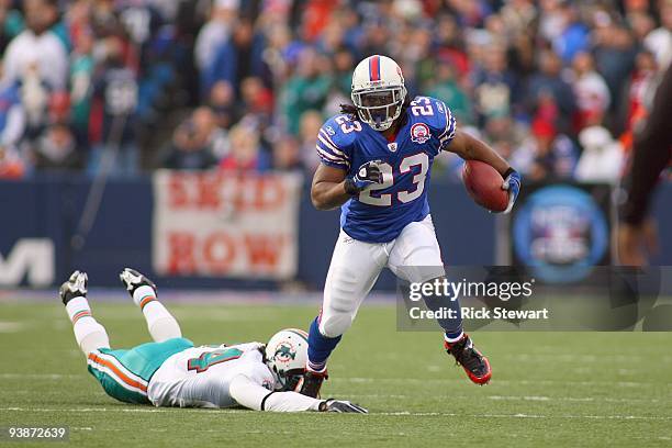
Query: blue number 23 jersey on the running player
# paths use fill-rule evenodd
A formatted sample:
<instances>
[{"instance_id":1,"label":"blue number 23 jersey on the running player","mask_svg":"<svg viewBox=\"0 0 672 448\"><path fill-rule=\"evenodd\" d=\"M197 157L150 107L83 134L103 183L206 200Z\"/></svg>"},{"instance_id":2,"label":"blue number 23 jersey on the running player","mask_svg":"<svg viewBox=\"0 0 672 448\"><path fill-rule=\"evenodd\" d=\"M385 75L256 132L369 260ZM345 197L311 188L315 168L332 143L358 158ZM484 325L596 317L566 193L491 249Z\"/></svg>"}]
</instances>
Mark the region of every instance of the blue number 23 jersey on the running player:
<instances>
[{"instance_id":1,"label":"blue number 23 jersey on the running player","mask_svg":"<svg viewBox=\"0 0 672 448\"><path fill-rule=\"evenodd\" d=\"M429 213L432 163L455 137L455 117L443 101L428 97L415 98L405 113L405 124L392 142L344 114L331 117L320 130L317 154L323 164L351 177L362 164L380 161L383 182L341 206L340 226L355 239L390 242Z\"/></svg>"}]
</instances>

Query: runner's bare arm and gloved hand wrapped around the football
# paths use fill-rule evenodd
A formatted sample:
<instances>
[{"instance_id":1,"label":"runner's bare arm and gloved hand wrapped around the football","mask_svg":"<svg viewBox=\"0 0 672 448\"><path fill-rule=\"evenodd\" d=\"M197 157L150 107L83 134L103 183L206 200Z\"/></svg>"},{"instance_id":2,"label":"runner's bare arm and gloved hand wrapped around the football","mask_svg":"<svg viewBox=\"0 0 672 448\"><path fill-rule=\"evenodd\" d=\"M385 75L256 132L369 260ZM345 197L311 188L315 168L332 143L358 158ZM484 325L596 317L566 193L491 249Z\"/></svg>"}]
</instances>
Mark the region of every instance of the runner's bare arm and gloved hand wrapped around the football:
<instances>
[{"instance_id":1,"label":"runner's bare arm and gloved hand wrapped around the football","mask_svg":"<svg viewBox=\"0 0 672 448\"><path fill-rule=\"evenodd\" d=\"M508 190L508 206L504 213L511 212L520 191L520 175L496 150L459 130L456 131L455 137L446 147L446 150L457 154L464 160L480 160L496 169L504 178L502 189Z\"/></svg>"}]
</instances>

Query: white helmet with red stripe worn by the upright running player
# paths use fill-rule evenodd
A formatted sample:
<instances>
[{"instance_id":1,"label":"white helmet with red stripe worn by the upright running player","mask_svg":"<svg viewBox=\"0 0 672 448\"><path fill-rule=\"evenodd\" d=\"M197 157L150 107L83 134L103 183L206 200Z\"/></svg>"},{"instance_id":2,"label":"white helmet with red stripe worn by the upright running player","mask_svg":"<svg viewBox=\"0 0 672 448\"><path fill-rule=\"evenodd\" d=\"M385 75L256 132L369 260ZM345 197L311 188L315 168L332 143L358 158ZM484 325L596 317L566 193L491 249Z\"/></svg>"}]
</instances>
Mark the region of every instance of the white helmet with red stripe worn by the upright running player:
<instances>
[{"instance_id":1,"label":"white helmet with red stripe worn by the upright running player","mask_svg":"<svg viewBox=\"0 0 672 448\"><path fill-rule=\"evenodd\" d=\"M351 98L362 122L376 131L390 128L406 99L401 68L387 56L367 57L352 72Z\"/></svg>"}]
</instances>

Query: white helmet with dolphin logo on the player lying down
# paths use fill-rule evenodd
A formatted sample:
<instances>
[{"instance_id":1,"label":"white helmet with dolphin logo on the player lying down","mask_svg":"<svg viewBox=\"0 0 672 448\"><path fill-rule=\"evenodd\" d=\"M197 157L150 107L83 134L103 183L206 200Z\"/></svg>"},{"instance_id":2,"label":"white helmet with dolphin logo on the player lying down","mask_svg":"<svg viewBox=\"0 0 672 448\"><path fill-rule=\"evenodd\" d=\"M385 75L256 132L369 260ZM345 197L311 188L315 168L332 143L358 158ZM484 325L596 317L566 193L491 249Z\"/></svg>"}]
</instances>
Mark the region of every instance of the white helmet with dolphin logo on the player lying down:
<instances>
[{"instance_id":1,"label":"white helmet with dolphin logo on the player lying down","mask_svg":"<svg viewBox=\"0 0 672 448\"><path fill-rule=\"evenodd\" d=\"M306 362L307 333L303 329L281 329L266 345L266 365L276 376L277 390L296 390Z\"/></svg>"}]
</instances>

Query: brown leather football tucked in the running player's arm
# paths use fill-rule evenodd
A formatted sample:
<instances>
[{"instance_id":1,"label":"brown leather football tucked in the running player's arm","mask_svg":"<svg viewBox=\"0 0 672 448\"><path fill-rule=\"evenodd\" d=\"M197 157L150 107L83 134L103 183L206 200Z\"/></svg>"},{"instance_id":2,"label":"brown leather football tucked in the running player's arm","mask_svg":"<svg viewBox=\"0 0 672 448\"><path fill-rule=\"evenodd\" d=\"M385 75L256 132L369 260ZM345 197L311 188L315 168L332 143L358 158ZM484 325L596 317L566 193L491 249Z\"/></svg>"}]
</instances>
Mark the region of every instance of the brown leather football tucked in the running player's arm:
<instances>
[{"instance_id":1,"label":"brown leather football tucked in the running player's arm","mask_svg":"<svg viewBox=\"0 0 672 448\"><path fill-rule=\"evenodd\" d=\"M508 193L502 190L504 179L496 169L480 160L467 160L462 181L474 202L492 212L503 212L508 205Z\"/></svg>"}]
</instances>

